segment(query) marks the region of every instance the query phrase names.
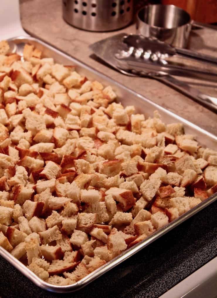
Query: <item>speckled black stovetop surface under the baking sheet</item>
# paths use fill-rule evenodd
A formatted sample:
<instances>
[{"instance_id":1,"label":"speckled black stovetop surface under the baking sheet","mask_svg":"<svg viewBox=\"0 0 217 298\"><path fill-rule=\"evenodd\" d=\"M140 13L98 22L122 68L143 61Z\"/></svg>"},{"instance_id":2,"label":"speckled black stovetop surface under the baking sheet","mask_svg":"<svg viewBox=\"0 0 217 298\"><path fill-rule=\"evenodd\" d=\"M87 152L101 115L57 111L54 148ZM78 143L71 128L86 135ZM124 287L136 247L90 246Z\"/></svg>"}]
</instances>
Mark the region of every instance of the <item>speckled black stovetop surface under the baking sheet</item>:
<instances>
[{"instance_id":1,"label":"speckled black stovetop surface under the baking sheet","mask_svg":"<svg viewBox=\"0 0 217 298\"><path fill-rule=\"evenodd\" d=\"M81 290L54 294L0 257L0 296L159 297L217 255L217 201Z\"/></svg>"}]
</instances>

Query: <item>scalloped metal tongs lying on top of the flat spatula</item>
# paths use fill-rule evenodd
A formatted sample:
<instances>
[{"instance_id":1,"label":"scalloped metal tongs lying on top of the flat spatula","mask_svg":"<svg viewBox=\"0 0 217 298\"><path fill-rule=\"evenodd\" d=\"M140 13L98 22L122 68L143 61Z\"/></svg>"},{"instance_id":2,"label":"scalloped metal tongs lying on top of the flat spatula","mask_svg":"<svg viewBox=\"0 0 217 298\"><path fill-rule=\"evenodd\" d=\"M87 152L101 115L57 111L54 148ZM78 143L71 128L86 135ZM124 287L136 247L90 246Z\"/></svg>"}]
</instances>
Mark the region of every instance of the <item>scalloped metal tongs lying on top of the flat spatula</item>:
<instances>
[{"instance_id":1,"label":"scalloped metal tongs lying on top of the flat spatula","mask_svg":"<svg viewBox=\"0 0 217 298\"><path fill-rule=\"evenodd\" d=\"M217 66L217 58L186 49L175 48L156 38L137 34L125 35L122 38L122 42L127 46L127 49L119 50L115 54L117 65L120 69L131 71L133 74L140 76L154 77L187 93L217 111L217 98L202 94L197 89L172 77L172 75L188 76L217 81L216 72L203 71L201 68L186 66L182 62L177 62L177 58L181 58L181 61L184 58L208 62ZM176 59L173 60L172 58Z\"/></svg>"}]
</instances>

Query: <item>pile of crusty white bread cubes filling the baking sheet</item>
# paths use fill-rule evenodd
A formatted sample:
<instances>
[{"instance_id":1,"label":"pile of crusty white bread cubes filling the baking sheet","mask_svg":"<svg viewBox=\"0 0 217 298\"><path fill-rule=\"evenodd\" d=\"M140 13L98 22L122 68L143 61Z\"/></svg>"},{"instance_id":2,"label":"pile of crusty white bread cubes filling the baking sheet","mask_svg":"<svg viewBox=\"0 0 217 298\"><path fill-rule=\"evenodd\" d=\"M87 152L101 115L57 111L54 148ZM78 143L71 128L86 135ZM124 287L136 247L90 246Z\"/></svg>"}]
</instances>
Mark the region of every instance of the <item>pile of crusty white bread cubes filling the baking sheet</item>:
<instances>
[{"instance_id":1,"label":"pile of crusty white bread cubes filling the baking sheet","mask_svg":"<svg viewBox=\"0 0 217 298\"><path fill-rule=\"evenodd\" d=\"M217 151L74 66L0 43L0 245L70 285L217 191Z\"/></svg>"}]
</instances>

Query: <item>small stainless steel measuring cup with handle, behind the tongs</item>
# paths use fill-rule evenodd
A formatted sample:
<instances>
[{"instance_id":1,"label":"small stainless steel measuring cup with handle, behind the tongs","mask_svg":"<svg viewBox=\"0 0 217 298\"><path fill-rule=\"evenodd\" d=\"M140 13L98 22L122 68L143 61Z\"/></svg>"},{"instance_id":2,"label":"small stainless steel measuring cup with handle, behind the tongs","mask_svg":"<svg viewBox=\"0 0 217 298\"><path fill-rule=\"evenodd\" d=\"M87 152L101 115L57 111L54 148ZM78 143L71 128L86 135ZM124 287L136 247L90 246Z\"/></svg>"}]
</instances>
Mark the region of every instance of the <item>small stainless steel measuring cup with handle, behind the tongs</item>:
<instances>
[{"instance_id":1,"label":"small stainless steel measuring cup with handle, behind the tongs","mask_svg":"<svg viewBox=\"0 0 217 298\"><path fill-rule=\"evenodd\" d=\"M175 5L154 4L138 11L136 33L158 38L175 47L186 48L192 25L217 29L191 20L189 13Z\"/></svg>"}]
</instances>

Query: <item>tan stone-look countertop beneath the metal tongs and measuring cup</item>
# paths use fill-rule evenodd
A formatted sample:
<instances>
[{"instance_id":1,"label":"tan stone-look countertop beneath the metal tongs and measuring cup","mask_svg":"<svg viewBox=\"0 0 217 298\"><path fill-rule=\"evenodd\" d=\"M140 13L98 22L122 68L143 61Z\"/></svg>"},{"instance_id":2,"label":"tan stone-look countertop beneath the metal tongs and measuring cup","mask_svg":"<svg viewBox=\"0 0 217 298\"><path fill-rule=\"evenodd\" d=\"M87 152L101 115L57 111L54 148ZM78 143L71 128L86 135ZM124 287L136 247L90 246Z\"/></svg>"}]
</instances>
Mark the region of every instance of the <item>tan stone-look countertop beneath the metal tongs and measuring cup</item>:
<instances>
[{"instance_id":1,"label":"tan stone-look countertop beneath the metal tongs and measuring cup","mask_svg":"<svg viewBox=\"0 0 217 298\"><path fill-rule=\"evenodd\" d=\"M92 52L88 48L89 44L119 32L135 33L135 24L115 32L79 30L63 20L60 0L20 0L20 10L22 26L30 35L55 45L162 107L217 135L217 116L214 112L157 80L123 75L90 57ZM210 29L192 31L189 47L217 57L216 31ZM191 86L194 88L217 97L217 83L200 81L199 84L195 84L190 78L184 80L192 83Z\"/></svg>"}]
</instances>

